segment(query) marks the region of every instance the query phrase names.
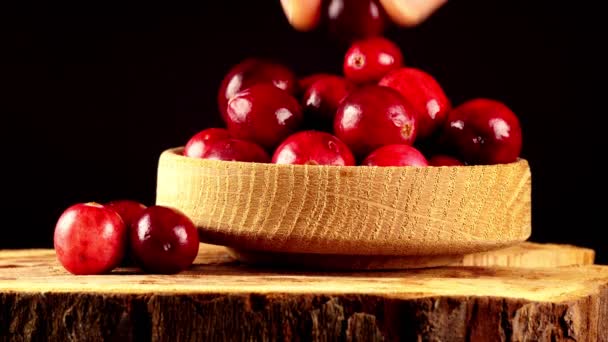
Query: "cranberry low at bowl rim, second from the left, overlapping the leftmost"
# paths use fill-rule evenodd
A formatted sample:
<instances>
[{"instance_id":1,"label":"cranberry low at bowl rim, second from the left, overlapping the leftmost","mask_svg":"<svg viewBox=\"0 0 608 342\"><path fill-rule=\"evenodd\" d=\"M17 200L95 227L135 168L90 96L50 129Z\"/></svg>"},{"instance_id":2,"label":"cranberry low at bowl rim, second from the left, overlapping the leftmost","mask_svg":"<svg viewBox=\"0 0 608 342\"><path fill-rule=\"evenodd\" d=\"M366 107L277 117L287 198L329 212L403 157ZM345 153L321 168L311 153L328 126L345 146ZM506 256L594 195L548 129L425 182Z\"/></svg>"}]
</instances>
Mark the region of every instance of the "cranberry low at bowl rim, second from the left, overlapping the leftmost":
<instances>
[{"instance_id":1,"label":"cranberry low at bowl rim, second from the left, overlapping the leftmost","mask_svg":"<svg viewBox=\"0 0 608 342\"><path fill-rule=\"evenodd\" d=\"M270 157L260 146L240 139L225 139L208 146L204 159L268 163Z\"/></svg>"}]
</instances>

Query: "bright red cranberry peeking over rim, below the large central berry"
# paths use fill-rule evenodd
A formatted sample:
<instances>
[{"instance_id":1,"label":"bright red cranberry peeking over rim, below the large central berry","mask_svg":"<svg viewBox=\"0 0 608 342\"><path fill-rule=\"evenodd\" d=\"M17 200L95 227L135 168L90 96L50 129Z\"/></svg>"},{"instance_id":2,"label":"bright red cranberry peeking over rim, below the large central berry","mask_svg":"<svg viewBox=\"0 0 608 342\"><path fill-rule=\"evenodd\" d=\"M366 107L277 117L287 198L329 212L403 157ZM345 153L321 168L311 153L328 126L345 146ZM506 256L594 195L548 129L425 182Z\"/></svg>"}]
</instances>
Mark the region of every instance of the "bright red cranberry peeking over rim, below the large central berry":
<instances>
[{"instance_id":1,"label":"bright red cranberry peeking over rim, below the large central berry","mask_svg":"<svg viewBox=\"0 0 608 342\"><path fill-rule=\"evenodd\" d=\"M382 146L365 158L366 166L428 166L424 155L412 146L394 144Z\"/></svg>"}]
</instances>

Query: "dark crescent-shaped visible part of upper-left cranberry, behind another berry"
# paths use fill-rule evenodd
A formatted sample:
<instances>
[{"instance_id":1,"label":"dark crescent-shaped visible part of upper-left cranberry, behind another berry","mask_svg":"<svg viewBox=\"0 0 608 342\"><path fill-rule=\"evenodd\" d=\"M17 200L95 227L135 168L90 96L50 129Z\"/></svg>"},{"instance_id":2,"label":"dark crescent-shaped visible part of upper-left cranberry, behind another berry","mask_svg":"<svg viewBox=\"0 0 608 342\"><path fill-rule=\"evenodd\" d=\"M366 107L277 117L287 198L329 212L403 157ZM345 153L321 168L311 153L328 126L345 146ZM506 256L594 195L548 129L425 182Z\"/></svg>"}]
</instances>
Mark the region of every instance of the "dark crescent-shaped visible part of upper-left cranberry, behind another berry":
<instances>
[{"instance_id":1,"label":"dark crescent-shaped visible part of upper-left cranberry, behind another berry","mask_svg":"<svg viewBox=\"0 0 608 342\"><path fill-rule=\"evenodd\" d=\"M260 58L245 59L232 67L220 84L217 100L224 121L228 101L258 83L272 84L290 94L295 94L298 86L295 74L285 65Z\"/></svg>"}]
</instances>

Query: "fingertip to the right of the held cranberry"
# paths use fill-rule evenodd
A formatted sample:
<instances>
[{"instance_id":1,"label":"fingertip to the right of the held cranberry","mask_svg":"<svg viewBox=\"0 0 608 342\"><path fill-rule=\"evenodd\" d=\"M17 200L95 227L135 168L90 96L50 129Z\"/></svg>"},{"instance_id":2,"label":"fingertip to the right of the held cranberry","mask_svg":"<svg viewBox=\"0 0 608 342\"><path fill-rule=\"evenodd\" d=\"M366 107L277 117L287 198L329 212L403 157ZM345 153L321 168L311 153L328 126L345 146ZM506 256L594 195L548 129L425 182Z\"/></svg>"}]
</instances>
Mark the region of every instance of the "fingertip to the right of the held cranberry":
<instances>
[{"instance_id":1,"label":"fingertip to the right of the held cranberry","mask_svg":"<svg viewBox=\"0 0 608 342\"><path fill-rule=\"evenodd\" d=\"M391 19L402 26L423 22L447 0L380 0Z\"/></svg>"}]
</instances>

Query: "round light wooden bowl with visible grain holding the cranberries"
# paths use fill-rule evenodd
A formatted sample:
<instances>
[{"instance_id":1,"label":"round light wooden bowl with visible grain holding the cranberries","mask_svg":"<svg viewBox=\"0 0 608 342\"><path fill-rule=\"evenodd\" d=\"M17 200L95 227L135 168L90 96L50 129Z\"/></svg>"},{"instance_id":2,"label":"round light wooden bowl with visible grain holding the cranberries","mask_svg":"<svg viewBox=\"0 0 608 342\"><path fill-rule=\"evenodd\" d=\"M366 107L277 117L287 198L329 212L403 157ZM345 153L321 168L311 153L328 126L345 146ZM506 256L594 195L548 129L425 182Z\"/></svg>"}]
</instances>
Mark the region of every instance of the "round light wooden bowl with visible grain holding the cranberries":
<instances>
[{"instance_id":1,"label":"round light wooden bowl with visible grain holding the cranberries","mask_svg":"<svg viewBox=\"0 0 608 342\"><path fill-rule=\"evenodd\" d=\"M159 205L245 262L366 269L428 267L525 241L526 160L503 165L276 165L162 153Z\"/></svg>"}]
</instances>

